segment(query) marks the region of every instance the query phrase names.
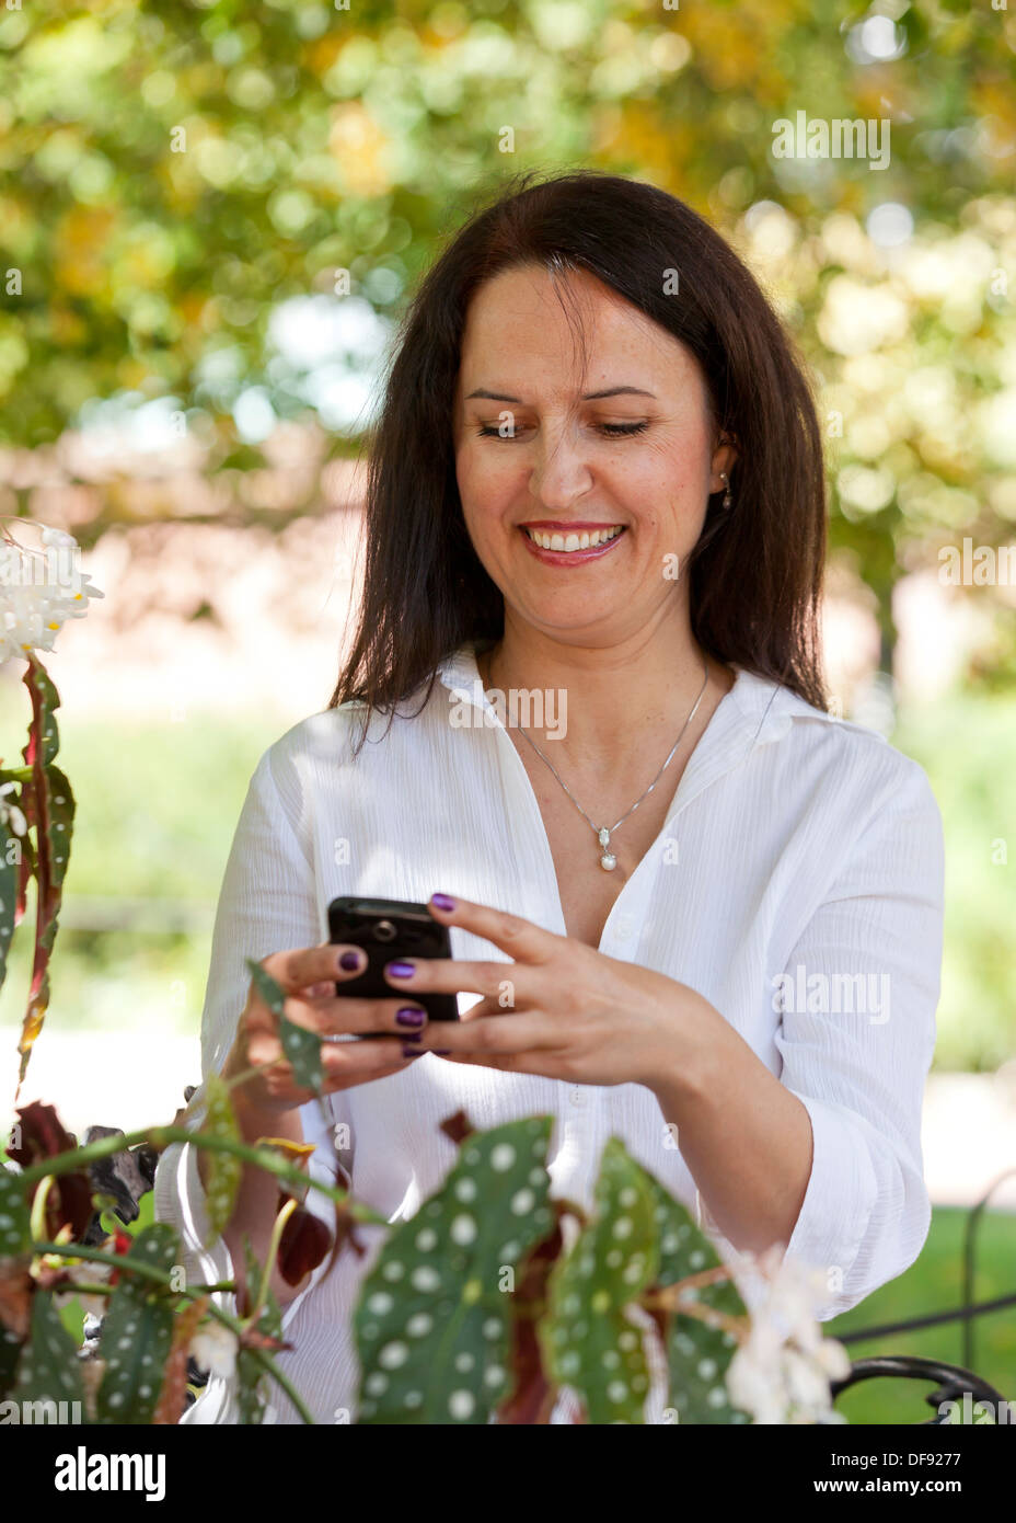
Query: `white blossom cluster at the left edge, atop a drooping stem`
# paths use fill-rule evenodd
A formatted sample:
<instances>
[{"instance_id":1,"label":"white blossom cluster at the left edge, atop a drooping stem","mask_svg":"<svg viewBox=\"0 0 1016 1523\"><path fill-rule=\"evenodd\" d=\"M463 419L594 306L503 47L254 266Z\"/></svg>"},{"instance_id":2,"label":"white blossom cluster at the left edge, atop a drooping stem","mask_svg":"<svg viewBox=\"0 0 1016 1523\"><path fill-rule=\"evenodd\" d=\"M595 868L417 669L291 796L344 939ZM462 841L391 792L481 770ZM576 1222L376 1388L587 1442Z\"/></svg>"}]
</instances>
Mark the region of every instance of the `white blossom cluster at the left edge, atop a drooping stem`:
<instances>
[{"instance_id":1,"label":"white blossom cluster at the left edge, atop a drooping stem","mask_svg":"<svg viewBox=\"0 0 1016 1523\"><path fill-rule=\"evenodd\" d=\"M18 524L27 519L17 519ZM26 550L0 530L0 666L30 650L52 650L68 618L84 618L102 597L78 570L78 541L62 528L41 528L43 550Z\"/></svg>"}]
</instances>

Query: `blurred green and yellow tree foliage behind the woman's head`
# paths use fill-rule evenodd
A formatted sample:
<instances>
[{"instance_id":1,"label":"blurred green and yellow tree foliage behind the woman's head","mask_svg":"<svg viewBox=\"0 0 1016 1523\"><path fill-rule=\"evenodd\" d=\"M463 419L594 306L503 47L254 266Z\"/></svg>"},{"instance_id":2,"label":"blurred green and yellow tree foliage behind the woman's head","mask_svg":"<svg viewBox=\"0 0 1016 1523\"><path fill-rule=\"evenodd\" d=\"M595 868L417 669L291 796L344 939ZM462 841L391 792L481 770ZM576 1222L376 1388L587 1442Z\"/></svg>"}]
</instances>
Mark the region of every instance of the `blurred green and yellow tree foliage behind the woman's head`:
<instances>
[{"instance_id":1,"label":"blurred green and yellow tree foliage behind the woman's head","mask_svg":"<svg viewBox=\"0 0 1016 1523\"><path fill-rule=\"evenodd\" d=\"M998 545L1016 522L1016 11L876 12L0 11L0 442L52 442L96 398L164 399L213 465L251 465L237 399L327 422L329 384L380 364L379 335L479 195L523 168L605 168L713 221L799 335L829 437L832 544L856 553L888 644L902 570L935 567L963 535ZM890 122L890 164L774 157L774 122L799 111ZM312 326L341 302L360 314L330 379L278 341L292 300L312 303ZM333 451L367 417L332 419Z\"/></svg>"}]
</instances>

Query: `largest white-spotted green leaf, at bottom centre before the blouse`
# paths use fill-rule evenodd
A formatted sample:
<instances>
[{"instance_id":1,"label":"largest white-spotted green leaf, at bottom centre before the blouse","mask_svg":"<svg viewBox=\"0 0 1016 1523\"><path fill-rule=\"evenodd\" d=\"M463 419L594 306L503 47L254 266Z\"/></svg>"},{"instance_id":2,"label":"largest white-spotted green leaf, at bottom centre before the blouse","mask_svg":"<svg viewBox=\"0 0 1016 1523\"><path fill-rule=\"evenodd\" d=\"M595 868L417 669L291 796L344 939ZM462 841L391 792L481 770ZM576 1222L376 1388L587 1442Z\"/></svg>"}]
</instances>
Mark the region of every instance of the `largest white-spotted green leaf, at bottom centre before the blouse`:
<instances>
[{"instance_id":1,"label":"largest white-spotted green leaf, at bottom centre before the blouse","mask_svg":"<svg viewBox=\"0 0 1016 1523\"><path fill-rule=\"evenodd\" d=\"M481 1424L508 1394L516 1267L554 1226L551 1116L471 1133L354 1313L364 1424Z\"/></svg>"}]
</instances>

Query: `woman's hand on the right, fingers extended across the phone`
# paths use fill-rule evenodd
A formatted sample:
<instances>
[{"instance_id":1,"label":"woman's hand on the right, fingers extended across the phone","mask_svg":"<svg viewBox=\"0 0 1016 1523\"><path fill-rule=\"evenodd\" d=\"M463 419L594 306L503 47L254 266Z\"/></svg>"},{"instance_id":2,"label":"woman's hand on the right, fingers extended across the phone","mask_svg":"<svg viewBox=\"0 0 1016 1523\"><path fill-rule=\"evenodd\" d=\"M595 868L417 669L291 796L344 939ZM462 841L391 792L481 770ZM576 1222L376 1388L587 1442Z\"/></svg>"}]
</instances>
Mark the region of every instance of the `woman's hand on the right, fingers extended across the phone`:
<instances>
[{"instance_id":1,"label":"woman's hand on the right, fingers extended across the phone","mask_svg":"<svg viewBox=\"0 0 1016 1523\"><path fill-rule=\"evenodd\" d=\"M691 1074L712 1023L722 1022L686 984L519 915L444 894L427 908L435 920L484 937L514 961L420 958L411 978L392 972L409 964L388 964L385 979L411 996L484 996L459 1022L432 1022L420 1042L424 1052L576 1084L652 1087L663 1074Z\"/></svg>"}]
</instances>

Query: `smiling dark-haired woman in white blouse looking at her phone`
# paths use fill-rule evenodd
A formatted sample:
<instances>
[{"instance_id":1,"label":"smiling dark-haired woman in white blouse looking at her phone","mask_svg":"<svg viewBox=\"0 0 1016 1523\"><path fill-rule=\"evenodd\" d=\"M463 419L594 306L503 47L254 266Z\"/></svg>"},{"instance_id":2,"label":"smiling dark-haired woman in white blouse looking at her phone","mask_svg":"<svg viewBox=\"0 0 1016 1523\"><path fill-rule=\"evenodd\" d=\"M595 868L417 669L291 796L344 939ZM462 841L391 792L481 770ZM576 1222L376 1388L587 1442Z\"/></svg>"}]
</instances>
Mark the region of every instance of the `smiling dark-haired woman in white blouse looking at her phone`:
<instances>
[{"instance_id":1,"label":"smiling dark-haired woman in white blouse looking at her phone","mask_svg":"<svg viewBox=\"0 0 1016 1523\"><path fill-rule=\"evenodd\" d=\"M555 1194L589 1202L618 1135L721 1250L823 1269L821 1317L914 1261L941 824L914 762L827 711L823 556L808 385L701 218L583 172L452 239L373 440L348 661L262 757L225 874L204 1071L262 1066L237 1092L248 1139L315 1144L316 1174L342 1164L398 1220L453 1162L446 1116L554 1113ZM453 959L333 998L357 972L325 943L339 894L427 900ZM327 1124L245 956L339 1039ZM427 990L482 998L429 1028ZM265 1250L275 1189L248 1173L216 1243L193 1151L164 1154L157 1209L217 1279L243 1234ZM295 1299L275 1279L283 1368L319 1421L356 1412L368 1263ZM554 1421L573 1410L564 1392ZM233 1416L221 1380L190 1413Z\"/></svg>"}]
</instances>

